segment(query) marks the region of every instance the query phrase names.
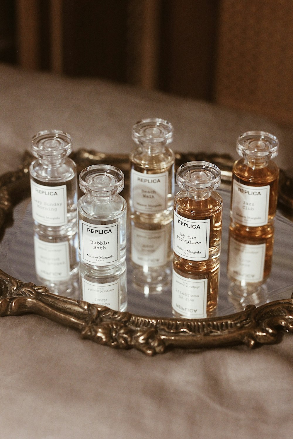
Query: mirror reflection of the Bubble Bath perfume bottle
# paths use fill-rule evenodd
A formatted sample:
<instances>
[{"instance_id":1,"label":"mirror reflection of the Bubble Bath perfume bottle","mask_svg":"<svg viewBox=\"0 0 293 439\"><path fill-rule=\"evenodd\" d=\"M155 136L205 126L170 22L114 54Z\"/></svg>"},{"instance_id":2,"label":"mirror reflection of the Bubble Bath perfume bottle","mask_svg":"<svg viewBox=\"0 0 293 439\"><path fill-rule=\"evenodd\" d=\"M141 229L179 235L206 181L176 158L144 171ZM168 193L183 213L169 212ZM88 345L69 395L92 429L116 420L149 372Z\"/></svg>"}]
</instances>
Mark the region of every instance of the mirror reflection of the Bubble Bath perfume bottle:
<instances>
[{"instance_id":1,"label":"mirror reflection of the Bubble Bath perfume bottle","mask_svg":"<svg viewBox=\"0 0 293 439\"><path fill-rule=\"evenodd\" d=\"M80 264L80 291L82 300L103 305L115 311L127 308L127 270L124 261L116 269L101 268L95 272Z\"/></svg>"}]
</instances>

